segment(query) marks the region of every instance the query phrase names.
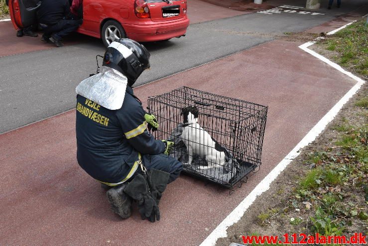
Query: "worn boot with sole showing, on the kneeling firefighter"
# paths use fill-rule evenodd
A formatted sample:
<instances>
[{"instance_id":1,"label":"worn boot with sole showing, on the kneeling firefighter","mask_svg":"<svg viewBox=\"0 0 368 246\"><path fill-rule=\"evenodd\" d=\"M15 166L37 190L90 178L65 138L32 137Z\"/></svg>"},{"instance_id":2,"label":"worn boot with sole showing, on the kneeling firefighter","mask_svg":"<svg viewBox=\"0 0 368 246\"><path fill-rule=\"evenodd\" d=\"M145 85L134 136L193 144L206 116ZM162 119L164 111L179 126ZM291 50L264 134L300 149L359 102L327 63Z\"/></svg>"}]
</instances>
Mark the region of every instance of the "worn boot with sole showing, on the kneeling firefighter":
<instances>
[{"instance_id":1,"label":"worn boot with sole showing, on the kneeling firefighter","mask_svg":"<svg viewBox=\"0 0 368 246\"><path fill-rule=\"evenodd\" d=\"M123 192L125 184L111 188L106 192L106 196L111 204L111 210L123 219L127 219L131 215L131 198Z\"/></svg>"}]
</instances>

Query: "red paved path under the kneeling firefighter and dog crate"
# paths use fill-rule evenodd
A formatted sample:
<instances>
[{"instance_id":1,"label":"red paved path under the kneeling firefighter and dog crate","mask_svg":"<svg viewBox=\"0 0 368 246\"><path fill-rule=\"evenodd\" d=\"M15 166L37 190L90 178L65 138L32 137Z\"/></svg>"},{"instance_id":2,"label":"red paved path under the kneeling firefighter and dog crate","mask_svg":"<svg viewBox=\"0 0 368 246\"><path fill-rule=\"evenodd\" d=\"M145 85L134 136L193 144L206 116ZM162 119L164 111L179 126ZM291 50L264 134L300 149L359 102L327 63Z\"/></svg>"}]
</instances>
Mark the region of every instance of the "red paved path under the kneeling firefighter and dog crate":
<instances>
[{"instance_id":1,"label":"red paved path under the kneeling firefighter and dog crate","mask_svg":"<svg viewBox=\"0 0 368 246\"><path fill-rule=\"evenodd\" d=\"M228 190L181 176L162 219L121 221L76 162L75 111L0 135L0 245L199 245L355 84L305 53L273 41L135 89L146 102L186 85L268 105L262 166Z\"/></svg>"}]
</instances>

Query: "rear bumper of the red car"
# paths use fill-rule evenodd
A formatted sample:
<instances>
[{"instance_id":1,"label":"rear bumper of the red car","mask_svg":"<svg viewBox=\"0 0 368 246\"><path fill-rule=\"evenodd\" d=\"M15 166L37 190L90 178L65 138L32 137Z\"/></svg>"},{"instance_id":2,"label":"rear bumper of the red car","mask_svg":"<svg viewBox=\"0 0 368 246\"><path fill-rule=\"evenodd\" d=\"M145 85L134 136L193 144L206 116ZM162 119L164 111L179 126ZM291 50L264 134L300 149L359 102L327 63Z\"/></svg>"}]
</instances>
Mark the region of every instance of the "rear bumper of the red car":
<instances>
[{"instance_id":1,"label":"rear bumper of the red car","mask_svg":"<svg viewBox=\"0 0 368 246\"><path fill-rule=\"evenodd\" d=\"M188 26L188 18L166 24L157 23L153 25L123 25L128 38L141 42L165 40L172 37L182 36L187 31Z\"/></svg>"}]
</instances>

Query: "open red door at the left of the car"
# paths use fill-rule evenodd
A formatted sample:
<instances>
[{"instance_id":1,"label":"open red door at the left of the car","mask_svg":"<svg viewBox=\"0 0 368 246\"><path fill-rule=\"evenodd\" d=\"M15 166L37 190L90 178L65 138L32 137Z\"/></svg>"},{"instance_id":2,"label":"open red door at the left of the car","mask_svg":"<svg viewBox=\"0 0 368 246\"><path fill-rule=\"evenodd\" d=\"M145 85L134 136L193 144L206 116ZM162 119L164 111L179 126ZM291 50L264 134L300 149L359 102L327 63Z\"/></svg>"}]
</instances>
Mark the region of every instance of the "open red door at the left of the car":
<instances>
[{"instance_id":1,"label":"open red door at the left of the car","mask_svg":"<svg viewBox=\"0 0 368 246\"><path fill-rule=\"evenodd\" d=\"M10 18L14 28L19 30L33 24L37 18L36 11L40 5L41 1L33 4L32 0L9 0Z\"/></svg>"}]
</instances>

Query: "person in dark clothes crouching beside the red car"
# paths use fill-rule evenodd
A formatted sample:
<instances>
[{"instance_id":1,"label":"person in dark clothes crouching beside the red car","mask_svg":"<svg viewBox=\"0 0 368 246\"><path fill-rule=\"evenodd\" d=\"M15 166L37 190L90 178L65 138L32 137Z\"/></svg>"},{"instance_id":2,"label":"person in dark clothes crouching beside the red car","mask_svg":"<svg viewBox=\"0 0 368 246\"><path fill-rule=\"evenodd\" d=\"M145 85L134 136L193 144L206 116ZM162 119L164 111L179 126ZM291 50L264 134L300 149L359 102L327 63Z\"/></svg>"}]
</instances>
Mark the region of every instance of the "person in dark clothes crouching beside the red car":
<instances>
[{"instance_id":1,"label":"person in dark clothes crouching beside the red car","mask_svg":"<svg viewBox=\"0 0 368 246\"><path fill-rule=\"evenodd\" d=\"M61 47L62 37L75 31L82 20L68 19L70 16L69 0L42 0L37 16L44 33L41 41L53 42Z\"/></svg>"}]
</instances>

